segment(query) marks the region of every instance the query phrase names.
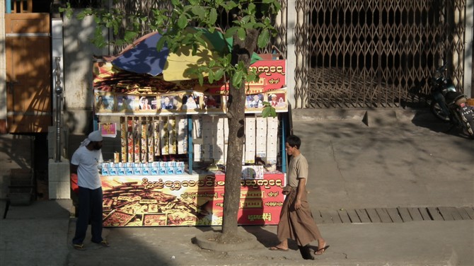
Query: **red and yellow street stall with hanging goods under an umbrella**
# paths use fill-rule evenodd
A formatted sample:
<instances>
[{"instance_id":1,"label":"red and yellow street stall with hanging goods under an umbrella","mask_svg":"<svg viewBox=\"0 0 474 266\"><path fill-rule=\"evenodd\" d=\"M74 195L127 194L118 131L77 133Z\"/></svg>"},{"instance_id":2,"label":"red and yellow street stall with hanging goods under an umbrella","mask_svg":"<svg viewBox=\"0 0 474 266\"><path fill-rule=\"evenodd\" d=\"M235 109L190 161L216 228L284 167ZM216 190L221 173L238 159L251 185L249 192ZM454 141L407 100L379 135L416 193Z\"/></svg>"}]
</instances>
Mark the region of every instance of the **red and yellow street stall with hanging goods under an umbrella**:
<instances>
[{"instance_id":1,"label":"red and yellow street stall with hanging goods under an umbrella","mask_svg":"<svg viewBox=\"0 0 474 266\"><path fill-rule=\"evenodd\" d=\"M110 151L103 147L103 225L218 226L231 141L229 84L204 79L200 85L185 76L183 62L190 59L156 51L157 35L93 64L96 127L113 139ZM277 224L285 185L286 61L271 54L253 58L250 68L262 74L245 84L238 223ZM261 116L264 101L277 117Z\"/></svg>"}]
</instances>

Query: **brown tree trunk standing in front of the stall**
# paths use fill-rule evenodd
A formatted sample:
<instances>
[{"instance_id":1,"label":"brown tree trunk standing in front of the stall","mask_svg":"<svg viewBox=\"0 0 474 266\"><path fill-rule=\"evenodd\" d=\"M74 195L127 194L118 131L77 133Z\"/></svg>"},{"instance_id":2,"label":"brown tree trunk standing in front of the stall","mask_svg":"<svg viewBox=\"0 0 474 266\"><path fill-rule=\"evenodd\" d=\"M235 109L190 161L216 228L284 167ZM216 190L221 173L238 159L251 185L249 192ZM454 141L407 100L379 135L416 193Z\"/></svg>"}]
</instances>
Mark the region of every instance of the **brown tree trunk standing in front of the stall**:
<instances>
[{"instance_id":1,"label":"brown tree trunk standing in front of the stall","mask_svg":"<svg viewBox=\"0 0 474 266\"><path fill-rule=\"evenodd\" d=\"M250 66L250 58L257 45L257 30L247 30L245 40L233 36L232 64L243 62ZM224 217L222 219L221 241L233 237L237 232L237 212L241 199L241 176L243 143L245 140L245 86L230 86L227 103L229 118L229 139L226 162L226 185L224 186Z\"/></svg>"}]
</instances>

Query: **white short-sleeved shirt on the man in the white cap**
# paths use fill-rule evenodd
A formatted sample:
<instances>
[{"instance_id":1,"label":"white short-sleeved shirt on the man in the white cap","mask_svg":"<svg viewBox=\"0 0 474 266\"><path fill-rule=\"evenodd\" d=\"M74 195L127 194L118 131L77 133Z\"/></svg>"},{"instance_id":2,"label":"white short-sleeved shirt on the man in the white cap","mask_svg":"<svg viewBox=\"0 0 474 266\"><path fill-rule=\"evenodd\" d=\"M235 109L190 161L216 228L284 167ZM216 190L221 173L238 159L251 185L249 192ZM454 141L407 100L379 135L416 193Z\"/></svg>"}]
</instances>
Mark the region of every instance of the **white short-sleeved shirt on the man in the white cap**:
<instances>
[{"instance_id":1,"label":"white short-sleeved shirt on the man in the white cap","mask_svg":"<svg viewBox=\"0 0 474 266\"><path fill-rule=\"evenodd\" d=\"M77 185L96 190L102 186L98 171L99 163L102 163L102 150L89 151L86 146L80 146L74 151L71 163L77 168Z\"/></svg>"}]
</instances>

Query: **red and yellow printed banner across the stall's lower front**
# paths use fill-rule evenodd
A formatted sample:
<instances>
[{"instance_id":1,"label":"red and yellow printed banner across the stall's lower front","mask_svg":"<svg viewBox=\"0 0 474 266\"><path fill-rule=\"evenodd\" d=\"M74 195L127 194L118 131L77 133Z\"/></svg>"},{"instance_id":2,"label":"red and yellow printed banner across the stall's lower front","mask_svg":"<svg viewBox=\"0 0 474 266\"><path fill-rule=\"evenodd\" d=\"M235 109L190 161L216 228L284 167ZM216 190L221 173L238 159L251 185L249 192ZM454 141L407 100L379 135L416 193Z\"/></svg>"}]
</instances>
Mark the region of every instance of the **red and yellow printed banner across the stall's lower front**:
<instances>
[{"instance_id":1,"label":"red and yellow printed banner across the stall's lower front","mask_svg":"<svg viewBox=\"0 0 474 266\"><path fill-rule=\"evenodd\" d=\"M220 226L224 173L101 176L103 226ZM241 180L238 224L278 224L284 173Z\"/></svg>"}]
</instances>

